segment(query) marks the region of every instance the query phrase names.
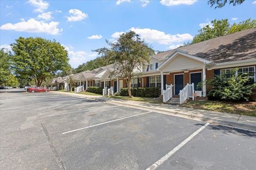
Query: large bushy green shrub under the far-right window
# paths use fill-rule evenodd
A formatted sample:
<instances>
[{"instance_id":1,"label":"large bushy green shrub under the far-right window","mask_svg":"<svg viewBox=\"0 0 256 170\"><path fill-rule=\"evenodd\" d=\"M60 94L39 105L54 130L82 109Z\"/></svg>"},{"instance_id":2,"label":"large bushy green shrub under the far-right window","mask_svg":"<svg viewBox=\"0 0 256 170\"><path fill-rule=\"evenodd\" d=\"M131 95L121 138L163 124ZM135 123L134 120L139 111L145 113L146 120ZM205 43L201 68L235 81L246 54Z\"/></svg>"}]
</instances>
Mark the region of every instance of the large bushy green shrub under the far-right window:
<instances>
[{"instance_id":1,"label":"large bushy green shrub under the far-right window","mask_svg":"<svg viewBox=\"0 0 256 170\"><path fill-rule=\"evenodd\" d=\"M230 77L214 77L209 82L212 87L207 96L210 99L240 101L250 99L252 90L256 88L256 83L250 84L250 78L247 74L235 75Z\"/></svg>"}]
</instances>

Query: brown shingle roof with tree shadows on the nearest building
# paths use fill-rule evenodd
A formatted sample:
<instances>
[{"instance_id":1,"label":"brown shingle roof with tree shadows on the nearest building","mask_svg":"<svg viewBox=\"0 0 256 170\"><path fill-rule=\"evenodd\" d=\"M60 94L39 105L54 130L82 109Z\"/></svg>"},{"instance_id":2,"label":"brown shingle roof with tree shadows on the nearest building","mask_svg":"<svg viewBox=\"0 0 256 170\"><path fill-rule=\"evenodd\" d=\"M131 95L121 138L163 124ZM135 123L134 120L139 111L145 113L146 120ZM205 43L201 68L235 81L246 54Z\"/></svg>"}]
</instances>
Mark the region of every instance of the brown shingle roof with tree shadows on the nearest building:
<instances>
[{"instance_id":1,"label":"brown shingle roof with tree shadows on the nearest building","mask_svg":"<svg viewBox=\"0 0 256 170\"><path fill-rule=\"evenodd\" d=\"M256 28L231 33L177 49L215 63L256 58ZM167 57L174 50L156 54L155 57Z\"/></svg>"}]
</instances>

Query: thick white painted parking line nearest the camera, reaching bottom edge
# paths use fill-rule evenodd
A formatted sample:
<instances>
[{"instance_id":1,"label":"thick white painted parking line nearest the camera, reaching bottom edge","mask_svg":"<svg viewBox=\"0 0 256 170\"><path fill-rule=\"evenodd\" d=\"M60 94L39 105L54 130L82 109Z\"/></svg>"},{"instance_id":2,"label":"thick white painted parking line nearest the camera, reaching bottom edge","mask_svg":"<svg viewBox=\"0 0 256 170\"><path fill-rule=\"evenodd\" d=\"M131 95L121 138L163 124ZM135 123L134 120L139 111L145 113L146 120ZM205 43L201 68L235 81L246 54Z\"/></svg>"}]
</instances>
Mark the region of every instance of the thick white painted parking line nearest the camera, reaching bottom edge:
<instances>
[{"instance_id":1,"label":"thick white painted parking line nearest the camera, reaching bottom edge","mask_svg":"<svg viewBox=\"0 0 256 170\"><path fill-rule=\"evenodd\" d=\"M182 148L188 141L193 139L199 132L201 132L206 126L208 126L210 123L206 123L201 128L199 128L197 131L195 131L193 134L191 134L187 139L183 140L177 147L173 148L170 152L168 152L165 156L163 156L161 159L157 160L153 165L148 167L146 170L154 170L157 169L158 166L162 165L167 159L169 159L175 152L177 152L180 148Z\"/></svg>"}]
</instances>

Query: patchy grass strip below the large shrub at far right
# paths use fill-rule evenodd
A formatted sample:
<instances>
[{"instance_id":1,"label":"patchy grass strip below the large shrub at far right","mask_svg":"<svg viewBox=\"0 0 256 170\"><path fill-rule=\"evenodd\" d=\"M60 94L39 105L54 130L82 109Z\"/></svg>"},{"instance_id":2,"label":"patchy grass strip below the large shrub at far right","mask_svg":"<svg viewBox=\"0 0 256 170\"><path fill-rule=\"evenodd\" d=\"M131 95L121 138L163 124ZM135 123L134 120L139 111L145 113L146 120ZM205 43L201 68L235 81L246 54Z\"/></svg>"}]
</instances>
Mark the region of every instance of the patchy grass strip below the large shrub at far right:
<instances>
[{"instance_id":1,"label":"patchy grass strip below the large shrub at far right","mask_svg":"<svg viewBox=\"0 0 256 170\"><path fill-rule=\"evenodd\" d=\"M233 113L256 117L256 102L228 102L228 101L187 101L181 107L204 109L215 112Z\"/></svg>"}]
</instances>

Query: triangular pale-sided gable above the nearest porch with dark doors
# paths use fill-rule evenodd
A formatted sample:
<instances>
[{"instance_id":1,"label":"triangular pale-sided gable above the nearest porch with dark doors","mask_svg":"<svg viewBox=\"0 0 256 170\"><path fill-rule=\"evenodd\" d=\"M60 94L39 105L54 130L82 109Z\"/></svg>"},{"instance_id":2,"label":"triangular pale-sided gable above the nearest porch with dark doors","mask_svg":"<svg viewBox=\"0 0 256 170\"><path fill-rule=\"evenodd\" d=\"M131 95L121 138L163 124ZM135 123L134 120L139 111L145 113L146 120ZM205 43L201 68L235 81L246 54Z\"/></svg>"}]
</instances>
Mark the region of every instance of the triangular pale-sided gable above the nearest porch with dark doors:
<instances>
[{"instance_id":1,"label":"triangular pale-sided gable above the nearest porch with dark doors","mask_svg":"<svg viewBox=\"0 0 256 170\"><path fill-rule=\"evenodd\" d=\"M205 64L203 62L194 60L192 58L178 55L165 66L162 67L161 71L180 71L186 69L194 69L196 67L204 67Z\"/></svg>"}]
</instances>

